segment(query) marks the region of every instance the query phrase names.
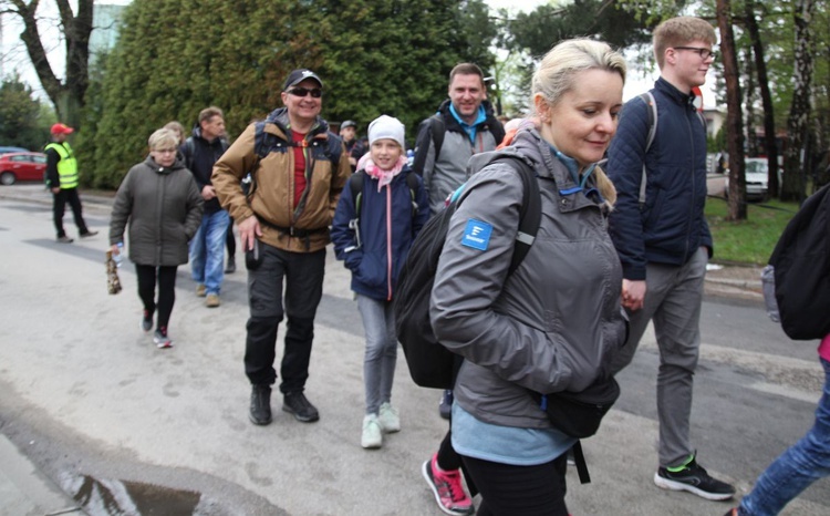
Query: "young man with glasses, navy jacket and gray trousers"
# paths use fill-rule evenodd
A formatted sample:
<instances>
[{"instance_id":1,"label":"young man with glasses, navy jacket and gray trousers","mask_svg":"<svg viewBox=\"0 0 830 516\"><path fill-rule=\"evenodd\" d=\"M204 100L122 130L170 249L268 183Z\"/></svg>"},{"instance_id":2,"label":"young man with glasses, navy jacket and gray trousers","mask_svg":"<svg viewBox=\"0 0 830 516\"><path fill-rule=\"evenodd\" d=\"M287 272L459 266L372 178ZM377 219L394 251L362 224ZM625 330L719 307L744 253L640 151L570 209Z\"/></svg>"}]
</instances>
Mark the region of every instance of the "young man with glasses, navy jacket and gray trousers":
<instances>
[{"instance_id":1,"label":"young man with glasses, navy jacket and gray trousers","mask_svg":"<svg viewBox=\"0 0 830 516\"><path fill-rule=\"evenodd\" d=\"M704 276L714 249L704 217L706 127L695 113L692 90L706 82L715 42L715 30L698 18L673 18L655 29L661 70L651 90L656 134L646 152L650 106L640 96L629 101L609 147L608 175L619 194L609 226L623 266L623 306L631 318L629 340L612 368L619 372L632 361L653 321L661 357L654 483L717 500L730 498L735 488L697 464L689 442Z\"/></svg>"}]
</instances>

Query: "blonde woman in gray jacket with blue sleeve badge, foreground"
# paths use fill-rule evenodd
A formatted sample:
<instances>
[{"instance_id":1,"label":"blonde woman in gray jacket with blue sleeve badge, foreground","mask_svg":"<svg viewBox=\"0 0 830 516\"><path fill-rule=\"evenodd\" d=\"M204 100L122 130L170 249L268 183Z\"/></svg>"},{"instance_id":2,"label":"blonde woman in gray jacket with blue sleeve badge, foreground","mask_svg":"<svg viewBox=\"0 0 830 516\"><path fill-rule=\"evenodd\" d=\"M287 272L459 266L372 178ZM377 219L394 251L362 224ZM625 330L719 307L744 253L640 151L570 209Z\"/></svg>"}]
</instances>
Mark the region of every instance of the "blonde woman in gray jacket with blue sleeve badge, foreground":
<instances>
[{"instance_id":1,"label":"blonde woman in gray jacket with blue sleeve badge, foreground","mask_svg":"<svg viewBox=\"0 0 830 516\"><path fill-rule=\"evenodd\" d=\"M605 216L616 194L596 162L616 131L625 61L608 44L568 40L533 75L539 128L506 152L536 171L541 224L508 276L522 183L499 159L465 186L430 300L438 340L464 357L453 446L481 494L477 514L568 515L567 451L575 440L530 394L581 392L610 380L625 339L622 270ZM470 169L478 169L477 155Z\"/></svg>"}]
</instances>

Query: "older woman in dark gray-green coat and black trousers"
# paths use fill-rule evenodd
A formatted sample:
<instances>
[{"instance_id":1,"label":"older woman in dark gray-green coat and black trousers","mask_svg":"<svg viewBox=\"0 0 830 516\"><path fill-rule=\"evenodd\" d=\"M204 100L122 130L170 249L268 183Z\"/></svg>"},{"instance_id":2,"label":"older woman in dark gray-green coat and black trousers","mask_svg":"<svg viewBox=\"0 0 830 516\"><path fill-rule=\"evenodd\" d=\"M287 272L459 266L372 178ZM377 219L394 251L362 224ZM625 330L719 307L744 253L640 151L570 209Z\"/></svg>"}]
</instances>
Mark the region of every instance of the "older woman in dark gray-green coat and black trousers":
<instances>
[{"instance_id":1,"label":"older woman in dark gray-green coat and black trousers","mask_svg":"<svg viewBox=\"0 0 830 516\"><path fill-rule=\"evenodd\" d=\"M158 348L170 348L167 323L176 301L176 269L187 264L187 244L201 223L204 200L190 171L177 157L178 137L160 128L148 140L149 156L129 169L118 187L110 221L110 245L120 252L129 225L129 259L138 277L144 303L141 328L153 329ZM155 301L156 279L158 301Z\"/></svg>"}]
</instances>

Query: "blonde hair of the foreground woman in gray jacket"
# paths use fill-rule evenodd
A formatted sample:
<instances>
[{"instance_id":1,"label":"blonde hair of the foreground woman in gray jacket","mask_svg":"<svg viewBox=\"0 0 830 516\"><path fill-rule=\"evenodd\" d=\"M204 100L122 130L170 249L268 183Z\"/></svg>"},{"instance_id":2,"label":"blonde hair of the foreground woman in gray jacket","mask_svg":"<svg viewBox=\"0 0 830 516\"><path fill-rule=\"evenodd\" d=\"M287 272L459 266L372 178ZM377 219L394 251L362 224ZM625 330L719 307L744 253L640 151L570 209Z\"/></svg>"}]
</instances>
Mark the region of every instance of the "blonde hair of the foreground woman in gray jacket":
<instances>
[{"instance_id":1,"label":"blonde hair of the foreground woman in gray jacket","mask_svg":"<svg viewBox=\"0 0 830 516\"><path fill-rule=\"evenodd\" d=\"M578 85L577 75L588 70L616 73L625 84L627 65L620 52L602 41L578 38L564 40L544 54L533 74L532 97L539 94L548 105L553 105L566 92ZM593 175L596 188L608 206L612 207L616 202L613 183L600 167L594 169Z\"/></svg>"}]
</instances>

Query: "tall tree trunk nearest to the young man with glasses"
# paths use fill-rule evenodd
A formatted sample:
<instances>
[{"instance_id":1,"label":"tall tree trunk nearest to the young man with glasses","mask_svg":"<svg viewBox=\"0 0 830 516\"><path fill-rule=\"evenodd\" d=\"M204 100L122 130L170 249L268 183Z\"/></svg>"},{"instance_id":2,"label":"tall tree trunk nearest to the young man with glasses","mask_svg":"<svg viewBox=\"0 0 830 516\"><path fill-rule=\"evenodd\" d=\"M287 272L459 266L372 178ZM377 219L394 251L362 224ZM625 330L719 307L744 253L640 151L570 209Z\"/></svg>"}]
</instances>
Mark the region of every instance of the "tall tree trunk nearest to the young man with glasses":
<instances>
[{"instance_id":1,"label":"tall tree trunk nearest to the young man with glasses","mask_svg":"<svg viewBox=\"0 0 830 516\"><path fill-rule=\"evenodd\" d=\"M726 81L726 134L729 151L729 220L746 219L746 179L744 177L744 128L740 107L738 60L735 54L735 34L732 30L729 0L717 0L717 27L720 31L720 53L724 56Z\"/></svg>"}]
</instances>

